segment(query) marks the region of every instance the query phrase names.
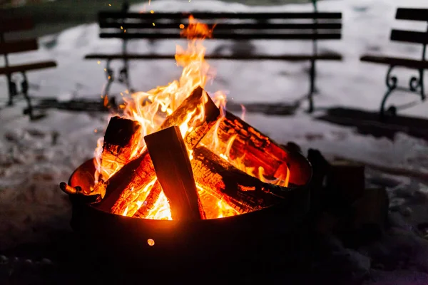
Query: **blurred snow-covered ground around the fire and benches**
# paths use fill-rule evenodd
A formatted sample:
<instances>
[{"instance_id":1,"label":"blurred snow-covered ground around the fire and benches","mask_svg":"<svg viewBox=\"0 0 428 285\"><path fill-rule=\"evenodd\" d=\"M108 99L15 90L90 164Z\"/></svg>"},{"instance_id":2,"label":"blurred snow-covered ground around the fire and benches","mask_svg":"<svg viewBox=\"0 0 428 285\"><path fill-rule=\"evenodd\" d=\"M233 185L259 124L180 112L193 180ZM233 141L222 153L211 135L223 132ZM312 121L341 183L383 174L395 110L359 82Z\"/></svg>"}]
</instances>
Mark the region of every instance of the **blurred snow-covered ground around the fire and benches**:
<instances>
[{"instance_id":1,"label":"blurred snow-covered ground around the fire and benches","mask_svg":"<svg viewBox=\"0 0 428 285\"><path fill-rule=\"evenodd\" d=\"M315 99L317 106L347 105L377 110L385 90L386 67L360 63L359 56L372 52L419 57L422 52L419 46L389 42L392 27L405 28L412 25L412 28L421 30L426 28L424 24L406 21L400 24L395 21L395 9L403 5L426 7L427 3L425 0L348 0L319 3L320 11L343 13L343 39L322 42L320 48L342 53L344 61L317 65L317 86L320 90L320 95ZM148 9L148 5L141 4L133 9L141 11ZM248 7L220 1L195 0L191 3L153 1L150 9L311 11L312 6L292 4ZM32 90L32 93L51 95L64 100L73 96L98 98L105 82L104 66L98 65L96 61L84 61L83 56L92 52L113 53L121 48L120 41L99 39L96 24L77 26L58 35L46 36L40 39L40 43L39 51L11 57L11 62L55 59L58 68L29 75L31 82L38 87ZM234 48L252 47L264 53L297 53L305 49L310 51L309 43L297 41L260 41L240 43L239 46L221 41L206 43L208 53L218 45L225 45L229 51ZM175 43L172 41L161 41L156 43L156 46L150 46L146 41L136 41L131 43L130 47L131 51L135 52L175 51ZM290 102L307 91L307 63L218 61L212 65L218 76L213 85L208 86L208 90L228 90L229 98L236 102ZM136 90L165 85L178 78L179 74L180 69L173 61L131 63L131 80ZM407 84L409 74L413 73L398 70L397 74L399 82ZM4 78L0 78L0 90L6 90ZM114 86L113 89L115 92L122 90L121 86ZM6 93L1 95L1 99L6 100ZM408 102L416 98L414 95L400 93L395 97L395 102ZM46 239L49 237L47 233L54 229L68 229L69 203L66 195L59 191L58 183L68 180L71 172L93 155L96 139L103 133L107 123L106 115L58 110L50 110L47 118L30 123L28 118L21 115L23 106L21 102L16 108L0 110L0 249L30 240ZM404 113L428 117L428 105L425 103ZM245 120L277 142L295 141L305 150L309 147L317 148L328 157L347 157L372 165L403 168L428 175L428 142L404 134L398 134L394 141L358 135L352 128L315 121L302 112L292 118L247 114ZM379 176L379 173L370 172L370 175ZM422 204L428 199L427 184L407 177L380 176L395 182L389 187L393 206L409 206L407 215L411 222L428 222L428 212ZM428 266L421 271L428 273ZM380 271L374 272L375 274L382 277L383 273ZM405 270L400 274L406 276ZM397 281L397 284L416 283Z\"/></svg>"}]
</instances>

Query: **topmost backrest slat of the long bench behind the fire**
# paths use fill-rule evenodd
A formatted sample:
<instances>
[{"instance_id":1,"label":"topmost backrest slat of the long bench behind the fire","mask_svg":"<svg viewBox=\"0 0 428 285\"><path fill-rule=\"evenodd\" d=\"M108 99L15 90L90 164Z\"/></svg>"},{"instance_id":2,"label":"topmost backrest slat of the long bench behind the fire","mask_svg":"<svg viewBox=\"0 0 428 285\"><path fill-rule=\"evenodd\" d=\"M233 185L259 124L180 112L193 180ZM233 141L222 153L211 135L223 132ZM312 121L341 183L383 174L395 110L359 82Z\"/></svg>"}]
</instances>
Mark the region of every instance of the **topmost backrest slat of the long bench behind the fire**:
<instances>
[{"instance_id":1,"label":"topmost backrest slat of the long bench behind the fire","mask_svg":"<svg viewBox=\"0 0 428 285\"><path fill-rule=\"evenodd\" d=\"M211 13L211 12L195 12L195 13L138 13L138 12L123 12L123 11L100 11L98 19L187 19L193 15L195 19L342 19L340 12L283 12L283 13Z\"/></svg>"}]
</instances>

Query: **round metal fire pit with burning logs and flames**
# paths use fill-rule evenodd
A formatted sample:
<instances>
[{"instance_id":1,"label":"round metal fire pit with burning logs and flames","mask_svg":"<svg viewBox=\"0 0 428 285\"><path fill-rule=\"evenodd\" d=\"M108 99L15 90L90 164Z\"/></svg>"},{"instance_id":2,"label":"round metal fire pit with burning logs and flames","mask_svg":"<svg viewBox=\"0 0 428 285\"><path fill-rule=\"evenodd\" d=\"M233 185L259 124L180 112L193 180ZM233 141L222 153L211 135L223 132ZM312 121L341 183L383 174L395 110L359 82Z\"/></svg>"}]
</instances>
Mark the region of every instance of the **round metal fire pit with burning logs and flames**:
<instances>
[{"instance_id":1,"label":"round metal fire pit with burning logs and flames","mask_svg":"<svg viewBox=\"0 0 428 285\"><path fill-rule=\"evenodd\" d=\"M201 31L190 21L185 34ZM96 157L61 183L73 229L121 265L251 262L287 243L309 210L309 162L203 90L205 49L189 39L180 81L126 99Z\"/></svg>"}]
</instances>

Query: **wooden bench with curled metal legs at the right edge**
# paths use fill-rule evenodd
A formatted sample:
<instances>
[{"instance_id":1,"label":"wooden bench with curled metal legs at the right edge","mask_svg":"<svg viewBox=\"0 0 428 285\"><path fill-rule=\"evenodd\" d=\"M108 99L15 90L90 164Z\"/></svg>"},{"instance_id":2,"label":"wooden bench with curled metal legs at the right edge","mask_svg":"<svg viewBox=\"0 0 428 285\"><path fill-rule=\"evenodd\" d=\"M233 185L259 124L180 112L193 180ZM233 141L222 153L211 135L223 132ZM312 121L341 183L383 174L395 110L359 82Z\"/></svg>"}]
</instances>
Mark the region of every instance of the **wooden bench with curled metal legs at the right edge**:
<instances>
[{"instance_id":1,"label":"wooden bench with curled metal legs at the right edge","mask_svg":"<svg viewBox=\"0 0 428 285\"><path fill-rule=\"evenodd\" d=\"M428 22L428 9L399 8L397 9L395 19ZM380 63L389 66L386 76L387 92L384 94L380 105L380 117L382 119L384 119L386 115L396 115L399 108L406 108L414 105L414 103L399 107L392 105L387 109L387 111L385 111L387 98L394 90L404 90L411 93L417 93L422 101L426 98L424 93L424 70L428 68L428 61L425 58L428 43L428 29L427 31L403 31L392 29L391 41L422 44L422 57L421 59L414 59L365 55L360 58L361 61ZM395 67L416 69L418 71L418 76L412 76L412 78L410 78L408 87L399 86L397 76L392 75L392 70Z\"/></svg>"}]
</instances>

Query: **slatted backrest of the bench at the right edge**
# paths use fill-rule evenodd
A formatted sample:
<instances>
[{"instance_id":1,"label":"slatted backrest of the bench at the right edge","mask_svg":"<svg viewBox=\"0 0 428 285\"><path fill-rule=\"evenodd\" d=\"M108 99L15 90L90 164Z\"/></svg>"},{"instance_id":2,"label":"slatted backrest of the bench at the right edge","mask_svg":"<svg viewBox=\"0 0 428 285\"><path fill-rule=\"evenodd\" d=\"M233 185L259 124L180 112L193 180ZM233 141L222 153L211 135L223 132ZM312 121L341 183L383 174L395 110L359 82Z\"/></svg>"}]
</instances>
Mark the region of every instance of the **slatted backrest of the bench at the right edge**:
<instances>
[{"instance_id":1,"label":"slatted backrest of the bench at the right edge","mask_svg":"<svg viewBox=\"0 0 428 285\"><path fill-rule=\"evenodd\" d=\"M427 31L405 31L392 29L391 32L391 41L422 43L424 46L422 51L422 59L424 59L425 49L428 44L428 9L398 8L395 19L427 22Z\"/></svg>"}]
</instances>

